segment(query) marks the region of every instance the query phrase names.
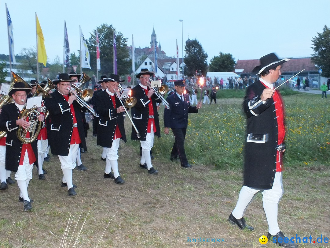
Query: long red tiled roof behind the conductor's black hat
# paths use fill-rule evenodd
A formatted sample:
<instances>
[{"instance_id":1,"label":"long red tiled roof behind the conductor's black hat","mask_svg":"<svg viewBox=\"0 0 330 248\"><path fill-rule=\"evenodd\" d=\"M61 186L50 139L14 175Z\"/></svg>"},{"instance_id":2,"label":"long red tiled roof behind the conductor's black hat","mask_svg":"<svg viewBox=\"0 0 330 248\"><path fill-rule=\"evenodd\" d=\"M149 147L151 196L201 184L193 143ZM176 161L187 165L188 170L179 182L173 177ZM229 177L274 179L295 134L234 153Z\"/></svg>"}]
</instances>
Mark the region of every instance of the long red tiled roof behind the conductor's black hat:
<instances>
[{"instance_id":1,"label":"long red tiled roof behind the conductor's black hat","mask_svg":"<svg viewBox=\"0 0 330 248\"><path fill-rule=\"evenodd\" d=\"M238 60L235 69L244 69L241 73L250 73L257 65L259 65L259 60ZM318 70L311 58L299 58L285 62L281 72L298 72L302 69L305 69L306 72Z\"/></svg>"}]
</instances>

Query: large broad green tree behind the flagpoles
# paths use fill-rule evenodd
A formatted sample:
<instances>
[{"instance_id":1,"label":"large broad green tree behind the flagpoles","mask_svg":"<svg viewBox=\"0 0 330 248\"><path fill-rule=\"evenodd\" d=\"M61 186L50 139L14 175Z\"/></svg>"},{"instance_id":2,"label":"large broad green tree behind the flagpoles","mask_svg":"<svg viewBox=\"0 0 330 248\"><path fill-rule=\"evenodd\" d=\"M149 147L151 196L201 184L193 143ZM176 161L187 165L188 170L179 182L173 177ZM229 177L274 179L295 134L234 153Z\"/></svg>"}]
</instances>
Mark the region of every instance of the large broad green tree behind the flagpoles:
<instances>
[{"instance_id":1,"label":"large broad green tree behind the flagpoles","mask_svg":"<svg viewBox=\"0 0 330 248\"><path fill-rule=\"evenodd\" d=\"M116 48L117 48L117 70L118 74L130 74L132 71L132 60L129 59L127 50L127 38L121 32L114 29L112 25L102 24L97 28L99 43L100 43L100 74L113 73L114 51L113 51L113 36L116 33ZM96 30L90 33L90 38L87 40L87 46L90 53L90 64L93 71L96 71Z\"/></svg>"}]
</instances>

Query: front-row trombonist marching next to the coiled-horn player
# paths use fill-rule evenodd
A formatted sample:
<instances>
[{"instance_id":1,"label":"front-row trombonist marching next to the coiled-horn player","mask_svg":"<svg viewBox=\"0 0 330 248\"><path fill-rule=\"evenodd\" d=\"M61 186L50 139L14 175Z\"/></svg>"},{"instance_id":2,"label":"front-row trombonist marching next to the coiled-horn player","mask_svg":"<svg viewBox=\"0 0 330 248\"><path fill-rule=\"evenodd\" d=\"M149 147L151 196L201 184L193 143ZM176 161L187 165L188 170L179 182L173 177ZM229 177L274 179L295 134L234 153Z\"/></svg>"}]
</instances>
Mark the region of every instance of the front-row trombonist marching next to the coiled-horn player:
<instances>
[{"instance_id":1,"label":"front-row trombonist marching next to the coiled-horn player","mask_svg":"<svg viewBox=\"0 0 330 248\"><path fill-rule=\"evenodd\" d=\"M69 196L77 195L72 183L72 170L76 167L79 144L85 141L81 107L78 96L70 94L71 82L67 73L53 80L57 90L45 99L50 116L49 144L51 153L58 155L63 179L61 186L68 187ZM75 101L76 100L76 101Z\"/></svg>"}]
</instances>

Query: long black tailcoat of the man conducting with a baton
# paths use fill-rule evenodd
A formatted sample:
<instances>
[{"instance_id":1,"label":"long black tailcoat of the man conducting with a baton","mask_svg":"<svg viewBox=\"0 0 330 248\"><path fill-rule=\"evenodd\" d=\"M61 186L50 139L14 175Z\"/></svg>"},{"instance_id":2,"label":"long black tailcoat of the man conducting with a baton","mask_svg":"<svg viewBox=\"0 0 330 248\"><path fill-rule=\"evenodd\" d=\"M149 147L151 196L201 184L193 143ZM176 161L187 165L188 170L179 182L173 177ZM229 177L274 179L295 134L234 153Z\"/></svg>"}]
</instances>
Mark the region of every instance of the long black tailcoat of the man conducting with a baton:
<instances>
[{"instance_id":1,"label":"long black tailcoat of the man conducting with a baton","mask_svg":"<svg viewBox=\"0 0 330 248\"><path fill-rule=\"evenodd\" d=\"M261 101L262 91L266 87L257 80L246 91L243 102L247 116L245 137L244 185L256 189L271 189L276 172L276 154L278 146L278 124L273 98ZM265 141L247 142L248 134L268 138ZM259 142L258 142L259 141Z\"/></svg>"}]
</instances>

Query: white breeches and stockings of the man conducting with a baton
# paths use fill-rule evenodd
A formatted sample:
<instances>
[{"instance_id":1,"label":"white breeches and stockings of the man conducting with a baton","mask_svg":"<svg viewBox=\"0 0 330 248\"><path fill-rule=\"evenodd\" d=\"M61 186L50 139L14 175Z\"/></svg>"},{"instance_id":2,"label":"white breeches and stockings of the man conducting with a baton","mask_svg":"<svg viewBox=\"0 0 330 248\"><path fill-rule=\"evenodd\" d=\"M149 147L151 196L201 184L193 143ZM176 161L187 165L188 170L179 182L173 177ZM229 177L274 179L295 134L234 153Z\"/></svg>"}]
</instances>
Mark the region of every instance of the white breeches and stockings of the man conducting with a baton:
<instances>
[{"instance_id":1,"label":"white breeches and stockings of the man conducting with a baton","mask_svg":"<svg viewBox=\"0 0 330 248\"><path fill-rule=\"evenodd\" d=\"M252 197L258 192L258 189L243 186L238 196L238 201L232 214L236 219L243 217L244 211ZM269 233L276 235L279 231L279 225L277 222L278 203L283 195L282 173L276 172L274 178L274 184L271 189L265 189L262 192L263 207L266 214Z\"/></svg>"}]
</instances>

